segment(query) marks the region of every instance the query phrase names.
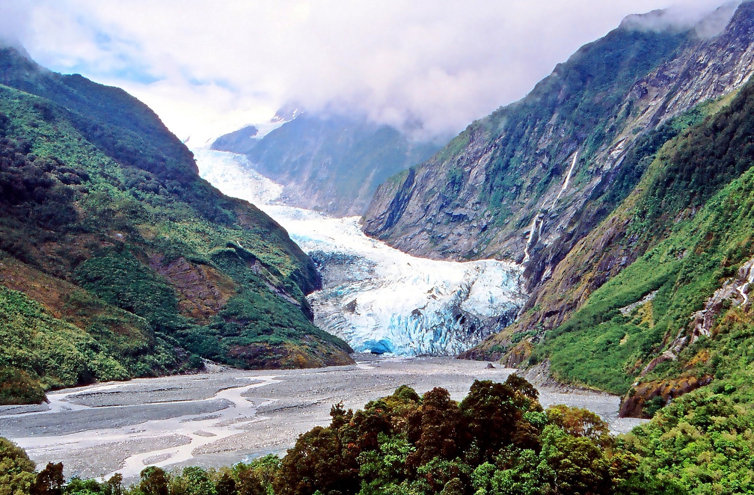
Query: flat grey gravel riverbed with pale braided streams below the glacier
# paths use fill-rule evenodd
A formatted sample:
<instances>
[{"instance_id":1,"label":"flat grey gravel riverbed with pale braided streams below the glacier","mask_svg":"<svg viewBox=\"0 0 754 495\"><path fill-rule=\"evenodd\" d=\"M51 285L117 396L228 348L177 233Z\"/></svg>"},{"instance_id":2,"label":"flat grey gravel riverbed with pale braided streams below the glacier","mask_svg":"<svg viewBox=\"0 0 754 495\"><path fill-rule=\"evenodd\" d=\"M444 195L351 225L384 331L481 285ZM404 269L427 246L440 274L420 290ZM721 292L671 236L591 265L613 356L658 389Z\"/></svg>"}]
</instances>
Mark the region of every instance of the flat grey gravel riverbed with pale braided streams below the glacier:
<instances>
[{"instance_id":1,"label":"flat grey gravel riverbed with pale braided streams below the glacier","mask_svg":"<svg viewBox=\"0 0 754 495\"><path fill-rule=\"evenodd\" d=\"M504 381L514 370L454 358L356 355L353 366L311 370L235 370L100 383L48 394L48 404L0 407L0 436L43 467L63 462L66 476L133 481L145 466L225 466L277 453L302 432L329 424L343 401L354 410L406 384L440 386L460 400L474 380ZM627 432L640 420L618 418L620 398L539 388L544 407L586 407Z\"/></svg>"}]
</instances>

